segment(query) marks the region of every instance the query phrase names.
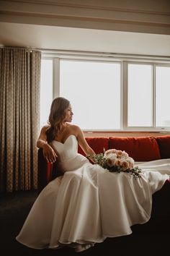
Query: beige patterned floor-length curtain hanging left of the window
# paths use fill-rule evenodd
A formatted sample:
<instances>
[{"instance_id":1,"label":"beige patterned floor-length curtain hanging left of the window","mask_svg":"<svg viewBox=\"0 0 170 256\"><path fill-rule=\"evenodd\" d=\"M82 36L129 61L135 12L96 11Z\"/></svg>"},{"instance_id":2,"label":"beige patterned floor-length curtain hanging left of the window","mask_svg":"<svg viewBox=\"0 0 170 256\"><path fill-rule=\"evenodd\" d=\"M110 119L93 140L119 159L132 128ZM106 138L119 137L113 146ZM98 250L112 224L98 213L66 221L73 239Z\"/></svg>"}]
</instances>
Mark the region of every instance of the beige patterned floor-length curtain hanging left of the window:
<instances>
[{"instance_id":1,"label":"beige patterned floor-length curtain hanging left of the window","mask_svg":"<svg viewBox=\"0 0 170 256\"><path fill-rule=\"evenodd\" d=\"M0 191L37 188L41 52L0 48Z\"/></svg>"}]
</instances>

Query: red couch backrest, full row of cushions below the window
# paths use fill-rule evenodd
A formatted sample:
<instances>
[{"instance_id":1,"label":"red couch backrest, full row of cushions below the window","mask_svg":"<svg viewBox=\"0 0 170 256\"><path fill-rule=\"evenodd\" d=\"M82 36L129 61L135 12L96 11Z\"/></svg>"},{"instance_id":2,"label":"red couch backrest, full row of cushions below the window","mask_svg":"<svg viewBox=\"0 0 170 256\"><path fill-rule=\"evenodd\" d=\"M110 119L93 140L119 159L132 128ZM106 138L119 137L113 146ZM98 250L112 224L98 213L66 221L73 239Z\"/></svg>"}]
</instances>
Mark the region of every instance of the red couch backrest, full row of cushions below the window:
<instances>
[{"instance_id":1,"label":"red couch backrest, full row of cushions below the window","mask_svg":"<svg viewBox=\"0 0 170 256\"><path fill-rule=\"evenodd\" d=\"M125 150L135 161L170 158L170 135L158 137L86 137L95 153L115 148ZM85 155L79 147L79 153Z\"/></svg>"}]
</instances>

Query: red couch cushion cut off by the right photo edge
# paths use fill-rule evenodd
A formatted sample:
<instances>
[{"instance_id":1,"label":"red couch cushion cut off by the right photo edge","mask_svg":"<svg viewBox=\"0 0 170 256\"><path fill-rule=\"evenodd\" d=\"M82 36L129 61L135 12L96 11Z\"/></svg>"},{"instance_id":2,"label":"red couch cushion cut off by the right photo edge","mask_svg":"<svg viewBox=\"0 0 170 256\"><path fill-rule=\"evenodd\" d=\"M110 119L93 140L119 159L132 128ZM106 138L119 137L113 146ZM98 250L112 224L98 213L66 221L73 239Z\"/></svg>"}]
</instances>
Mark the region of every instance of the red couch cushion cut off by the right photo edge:
<instances>
[{"instance_id":1,"label":"red couch cushion cut off by the right photo edge","mask_svg":"<svg viewBox=\"0 0 170 256\"><path fill-rule=\"evenodd\" d=\"M161 158L170 158L170 136L158 136L156 141L158 142Z\"/></svg>"}]
</instances>

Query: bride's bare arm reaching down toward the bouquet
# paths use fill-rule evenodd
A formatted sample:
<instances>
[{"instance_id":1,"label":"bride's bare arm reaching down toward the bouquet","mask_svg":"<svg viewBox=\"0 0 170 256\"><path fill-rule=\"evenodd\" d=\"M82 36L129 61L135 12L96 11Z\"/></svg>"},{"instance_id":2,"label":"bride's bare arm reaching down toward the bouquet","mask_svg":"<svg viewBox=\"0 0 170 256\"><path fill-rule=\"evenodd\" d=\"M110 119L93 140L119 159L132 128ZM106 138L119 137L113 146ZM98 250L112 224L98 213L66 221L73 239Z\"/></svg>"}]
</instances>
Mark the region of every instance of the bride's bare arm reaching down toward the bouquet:
<instances>
[{"instance_id":1,"label":"bride's bare arm reaching down toward the bouquet","mask_svg":"<svg viewBox=\"0 0 170 256\"><path fill-rule=\"evenodd\" d=\"M79 127L76 127L76 134L77 134L78 143L81 146L82 150L84 150L84 153L86 153L86 155L88 155L88 156L95 155L94 150L86 142L84 133L82 132L82 130ZM90 158L90 156L89 156L89 158ZM92 160L92 158L91 158L91 160Z\"/></svg>"}]
</instances>

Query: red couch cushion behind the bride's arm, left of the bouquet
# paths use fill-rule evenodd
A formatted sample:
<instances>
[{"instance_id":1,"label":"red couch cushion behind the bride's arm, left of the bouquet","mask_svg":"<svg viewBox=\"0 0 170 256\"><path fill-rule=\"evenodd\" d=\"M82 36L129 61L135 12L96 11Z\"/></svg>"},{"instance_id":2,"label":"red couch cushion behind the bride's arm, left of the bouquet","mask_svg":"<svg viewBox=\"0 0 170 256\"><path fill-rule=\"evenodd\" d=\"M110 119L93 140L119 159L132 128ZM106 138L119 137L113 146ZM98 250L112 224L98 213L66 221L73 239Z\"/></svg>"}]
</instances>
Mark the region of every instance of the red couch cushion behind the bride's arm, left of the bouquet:
<instances>
[{"instance_id":1,"label":"red couch cushion behind the bride's arm, left of the bouquet","mask_svg":"<svg viewBox=\"0 0 170 256\"><path fill-rule=\"evenodd\" d=\"M104 148L108 150L109 148L109 138L108 137L86 137L86 142L94 150L95 153L102 153ZM79 146L78 152L82 155L86 155L84 151Z\"/></svg>"}]
</instances>

